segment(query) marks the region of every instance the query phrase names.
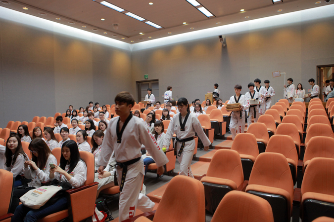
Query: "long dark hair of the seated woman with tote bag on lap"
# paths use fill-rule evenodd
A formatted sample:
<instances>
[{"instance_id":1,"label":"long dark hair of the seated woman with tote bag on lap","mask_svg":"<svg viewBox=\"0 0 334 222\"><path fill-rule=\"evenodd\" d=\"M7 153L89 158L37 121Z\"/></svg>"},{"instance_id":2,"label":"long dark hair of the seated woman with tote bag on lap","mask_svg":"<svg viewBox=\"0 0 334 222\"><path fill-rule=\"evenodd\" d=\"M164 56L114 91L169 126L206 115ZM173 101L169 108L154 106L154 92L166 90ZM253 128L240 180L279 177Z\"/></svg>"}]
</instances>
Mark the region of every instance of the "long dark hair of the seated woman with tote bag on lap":
<instances>
[{"instance_id":1,"label":"long dark hair of the seated woman with tote bag on lap","mask_svg":"<svg viewBox=\"0 0 334 222\"><path fill-rule=\"evenodd\" d=\"M70 167L68 168L68 171L67 171L67 173L71 173L74 170L74 168L77 166L79 160L81 160L80 159L79 148L78 148L77 143L74 140L69 140L61 146L61 156L60 156L59 167L63 170L65 170L65 167L68 163L68 161L65 159L65 157L62 154L62 151L63 151L64 147L69 148L70 152L71 152L71 156L70 156L70 159L69 159Z\"/></svg>"}]
</instances>

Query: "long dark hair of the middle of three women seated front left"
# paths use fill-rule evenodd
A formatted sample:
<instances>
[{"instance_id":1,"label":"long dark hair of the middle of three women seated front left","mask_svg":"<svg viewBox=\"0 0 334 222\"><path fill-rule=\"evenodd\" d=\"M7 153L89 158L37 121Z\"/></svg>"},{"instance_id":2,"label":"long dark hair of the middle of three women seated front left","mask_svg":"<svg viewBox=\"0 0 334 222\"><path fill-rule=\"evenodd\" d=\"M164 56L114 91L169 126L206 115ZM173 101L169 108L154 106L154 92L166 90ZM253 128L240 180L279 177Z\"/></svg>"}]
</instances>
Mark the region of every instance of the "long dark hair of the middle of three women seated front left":
<instances>
[{"instance_id":1,"label":"long dark hair of the middle of three women seated front left","mask_svg":"<svg viewBox=\"0 0 334 222\"><path fill-rule=\"evenodd\" d=\"M48 156L51 154L48 145L41 138L36 138L29 144L29 150L38 153L38 156L32 155L31 160L36 163L38 168L44 170L48 162ZM34 170L33 168L31 169Z\"/></svg>"}]
</instances>

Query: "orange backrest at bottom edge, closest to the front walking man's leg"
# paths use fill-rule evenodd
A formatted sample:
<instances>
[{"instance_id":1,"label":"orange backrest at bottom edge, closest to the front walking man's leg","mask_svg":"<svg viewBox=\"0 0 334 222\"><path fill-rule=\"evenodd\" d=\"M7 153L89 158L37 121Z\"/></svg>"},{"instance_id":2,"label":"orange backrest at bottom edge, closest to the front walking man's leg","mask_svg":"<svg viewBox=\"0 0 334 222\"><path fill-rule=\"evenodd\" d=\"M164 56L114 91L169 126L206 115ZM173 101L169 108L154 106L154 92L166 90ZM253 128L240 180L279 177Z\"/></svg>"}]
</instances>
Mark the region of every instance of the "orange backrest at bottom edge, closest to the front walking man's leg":
<instances>
[{"instance_id":1,"label":"orange backrest at bottom edge, closest to the front walking man's leg","mask_svg":"<svg viewBox=\"0 0 334 222\"><path fill-rule=\"evenodd\" d=\"M174 177L162 195L154 221L167 221L166 218L168 222L205 221L204 185L187 176Z\"/></svg>"}]
</instances>

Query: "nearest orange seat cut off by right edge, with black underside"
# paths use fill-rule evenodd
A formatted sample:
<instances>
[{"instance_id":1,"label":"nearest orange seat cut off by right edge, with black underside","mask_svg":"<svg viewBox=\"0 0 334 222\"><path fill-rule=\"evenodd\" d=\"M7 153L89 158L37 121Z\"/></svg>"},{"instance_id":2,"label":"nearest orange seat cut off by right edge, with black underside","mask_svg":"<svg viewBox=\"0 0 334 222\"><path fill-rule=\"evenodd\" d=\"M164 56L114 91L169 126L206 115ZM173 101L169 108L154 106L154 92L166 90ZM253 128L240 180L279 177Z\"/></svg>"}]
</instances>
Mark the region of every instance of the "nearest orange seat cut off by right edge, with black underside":
<instances>
[{"instance_id":1,"label":"nearest orange seat cut off by right edge, with black underside","mask_svg":"<svg viewBox=\"0 0 334 222\"><path fill-rule=\"evenodd\" d=\"M334 159L316 157L305 169L301 185L301 219L334 218Z\"/></svg>"}]
</instances>

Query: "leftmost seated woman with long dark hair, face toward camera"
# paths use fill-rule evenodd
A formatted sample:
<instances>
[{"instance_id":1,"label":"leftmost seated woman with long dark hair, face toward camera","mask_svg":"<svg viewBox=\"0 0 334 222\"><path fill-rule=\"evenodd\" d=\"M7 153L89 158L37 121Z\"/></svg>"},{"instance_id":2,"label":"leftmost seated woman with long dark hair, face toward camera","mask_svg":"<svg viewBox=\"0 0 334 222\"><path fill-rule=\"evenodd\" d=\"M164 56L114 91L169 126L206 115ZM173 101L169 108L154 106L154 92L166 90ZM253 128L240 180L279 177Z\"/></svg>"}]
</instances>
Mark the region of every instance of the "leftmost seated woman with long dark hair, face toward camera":
<instances>
[{"instance_id":1,"label":"leftmost seated woman with long dark hair, face toward camera","mask_svg":"<svg viewBox=\"0 0 334 222\"><path fill-rule=\"evenodd\" d=\"M22 185L21 175L24 173L24 161L29 160L29 158L25 154L21 140L16 134L9 136L6 141L5 157L4 169L13 174L15 178L14 187Z\"/></svg>"}]
</instances>

